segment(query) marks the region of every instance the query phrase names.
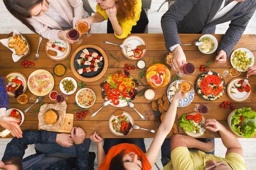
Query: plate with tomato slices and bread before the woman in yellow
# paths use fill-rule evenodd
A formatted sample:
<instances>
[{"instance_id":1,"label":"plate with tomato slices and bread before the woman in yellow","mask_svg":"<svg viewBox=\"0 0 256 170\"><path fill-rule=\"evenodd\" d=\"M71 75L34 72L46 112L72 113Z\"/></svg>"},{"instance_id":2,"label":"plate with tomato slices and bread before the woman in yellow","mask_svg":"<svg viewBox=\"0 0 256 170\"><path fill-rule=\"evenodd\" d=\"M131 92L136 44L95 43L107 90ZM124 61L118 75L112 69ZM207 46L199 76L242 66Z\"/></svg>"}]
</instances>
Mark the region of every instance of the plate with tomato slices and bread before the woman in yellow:
<instances>
[{"instance_id":1,"label":"plate with tomato slices and bread before the woman in yellow","mask_svg":"<svg viewBox=\"0 0 256 170\"><path fill-rule=\"evenodd\" d=\"M147 51L145 40L137 35L126 37L122 44L127 46L127 48L122 48L122 53L131 60L141 59Z\"/></svg>"}]
</instances>

